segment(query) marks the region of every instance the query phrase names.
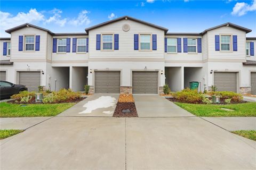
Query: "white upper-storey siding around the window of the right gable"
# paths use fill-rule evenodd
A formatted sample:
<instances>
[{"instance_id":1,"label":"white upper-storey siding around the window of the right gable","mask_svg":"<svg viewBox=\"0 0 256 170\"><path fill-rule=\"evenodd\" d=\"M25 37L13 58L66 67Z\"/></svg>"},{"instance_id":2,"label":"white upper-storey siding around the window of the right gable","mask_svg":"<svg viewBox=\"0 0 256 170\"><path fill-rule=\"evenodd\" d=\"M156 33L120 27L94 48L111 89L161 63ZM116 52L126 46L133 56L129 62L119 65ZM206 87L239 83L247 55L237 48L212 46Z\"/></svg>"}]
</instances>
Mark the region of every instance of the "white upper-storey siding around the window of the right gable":
<instances>
[{"instance_id":1,"label":"white upper-storey siding around the window of the right gable","mask_svg":"<svg viewBox=\"0 0 256 170\"><path fill-rule=\"evenodd\" d=\"M209 58L245 59L245 32L231 28L221 27L207 32ZM237 52L215 51L215 35L237 35ZM232 45L232 44L231 44Z\"/></svg>"}]
</instances>

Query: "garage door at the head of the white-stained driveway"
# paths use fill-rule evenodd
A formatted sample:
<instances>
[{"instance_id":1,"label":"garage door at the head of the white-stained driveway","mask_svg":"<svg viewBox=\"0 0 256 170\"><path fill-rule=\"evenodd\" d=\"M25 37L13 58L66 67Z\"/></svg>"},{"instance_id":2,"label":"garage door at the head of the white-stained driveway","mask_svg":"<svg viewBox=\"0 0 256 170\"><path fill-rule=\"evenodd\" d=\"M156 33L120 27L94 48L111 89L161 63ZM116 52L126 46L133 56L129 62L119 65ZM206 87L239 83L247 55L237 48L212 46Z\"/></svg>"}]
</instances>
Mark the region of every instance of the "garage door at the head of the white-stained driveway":
<instances>
[{"instance_id":1,"label":"garage door at the head of the white-stained driveway","mask_svg":"<svg viewBox=\"0 0 256 170\"><path fill-rule=\"evenodd\" d=\"M119 71L95 72L95 93L120 93Z\"/></svg>"}]
</instances>

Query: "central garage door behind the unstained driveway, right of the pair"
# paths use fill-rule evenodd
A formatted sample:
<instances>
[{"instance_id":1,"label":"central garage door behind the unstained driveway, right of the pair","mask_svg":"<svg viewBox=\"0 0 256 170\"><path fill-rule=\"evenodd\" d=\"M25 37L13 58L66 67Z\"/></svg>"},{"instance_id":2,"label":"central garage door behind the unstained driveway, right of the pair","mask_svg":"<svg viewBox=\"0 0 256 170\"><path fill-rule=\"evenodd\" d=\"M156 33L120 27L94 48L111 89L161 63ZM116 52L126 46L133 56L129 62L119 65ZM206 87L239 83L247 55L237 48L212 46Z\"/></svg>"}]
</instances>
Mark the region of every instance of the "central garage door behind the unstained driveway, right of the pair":
<instances>
[{"instance_id":1,"label":"central garage door behind the unstained driveway, right of the pair","mask_svg":"<svg viewBox=\"0 0 256 170\"><path fill-rule=\"evenodd\" d=\"M158 72L132 72L133 94L158 94Z\"/></svg>"}]
</instances>

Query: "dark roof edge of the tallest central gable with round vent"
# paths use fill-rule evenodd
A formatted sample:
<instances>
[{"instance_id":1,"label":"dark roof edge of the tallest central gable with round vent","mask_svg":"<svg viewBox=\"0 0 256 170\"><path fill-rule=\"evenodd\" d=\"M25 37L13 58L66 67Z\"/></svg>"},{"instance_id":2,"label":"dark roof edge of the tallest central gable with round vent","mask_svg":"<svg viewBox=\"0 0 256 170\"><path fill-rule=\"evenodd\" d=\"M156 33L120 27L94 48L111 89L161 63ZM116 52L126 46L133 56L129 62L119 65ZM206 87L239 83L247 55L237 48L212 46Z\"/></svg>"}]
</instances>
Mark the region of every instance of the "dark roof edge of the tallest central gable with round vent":
<instances>
[{"instance_id":1,"label":"dark roof edge of the tallest central gable with round vent","mask_svg":"<svg viewBox=\"0 0 256 170\"><path fill-rule=\"evenodd\" d=\"M120 20L132 20L132 21L135 21L135 22L139 22L139 23L148 25L148 26L150 26L150 27L154 27L154 28L161 29L161 30L163 30L165 33L168 31L167 28L160 27L160 26L155 25L155 24L153 24L153 23L149 23L149 22L145 22L145 21L142 21L142 20L138 20L138 19L132 18L131 16L122 16L122 17L119 17L119 18L114 19L114 20L110 20L110 21L107 21L107 22L103 22L103 23L94 25L94 26L92 26L92 27L86 28L85 31L88 33L88 32L89 32L90 30L92 30L92 29L99 28L99 27L102 27L102 26L104 26L104 25L107 25L107 24L110 24L110 23L114 23L114 22L117 22L117 21L120 21Z\"/></svg>"}]
</instances>

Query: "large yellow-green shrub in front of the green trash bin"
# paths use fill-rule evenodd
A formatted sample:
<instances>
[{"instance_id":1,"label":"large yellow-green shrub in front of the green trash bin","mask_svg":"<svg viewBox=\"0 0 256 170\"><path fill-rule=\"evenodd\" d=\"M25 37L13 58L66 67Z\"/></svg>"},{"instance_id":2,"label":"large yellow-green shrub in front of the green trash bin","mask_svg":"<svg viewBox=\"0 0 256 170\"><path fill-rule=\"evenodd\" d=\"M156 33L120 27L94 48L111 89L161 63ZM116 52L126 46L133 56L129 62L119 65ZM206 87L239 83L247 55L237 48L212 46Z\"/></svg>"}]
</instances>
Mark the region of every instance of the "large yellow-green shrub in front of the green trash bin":
<instances>
[{"instance_id":1,"label":"large yellow-green shrub in front of the green trash bin","mask_svg":"<svg viewBox=\"0 0 256 170\"><path fill-rule=\"evenodd\" d=\"M176 92L174 98L183 103L201 103L203 95L198 94L197 90L183 89Z\"/></svg>"}]
</instances>

